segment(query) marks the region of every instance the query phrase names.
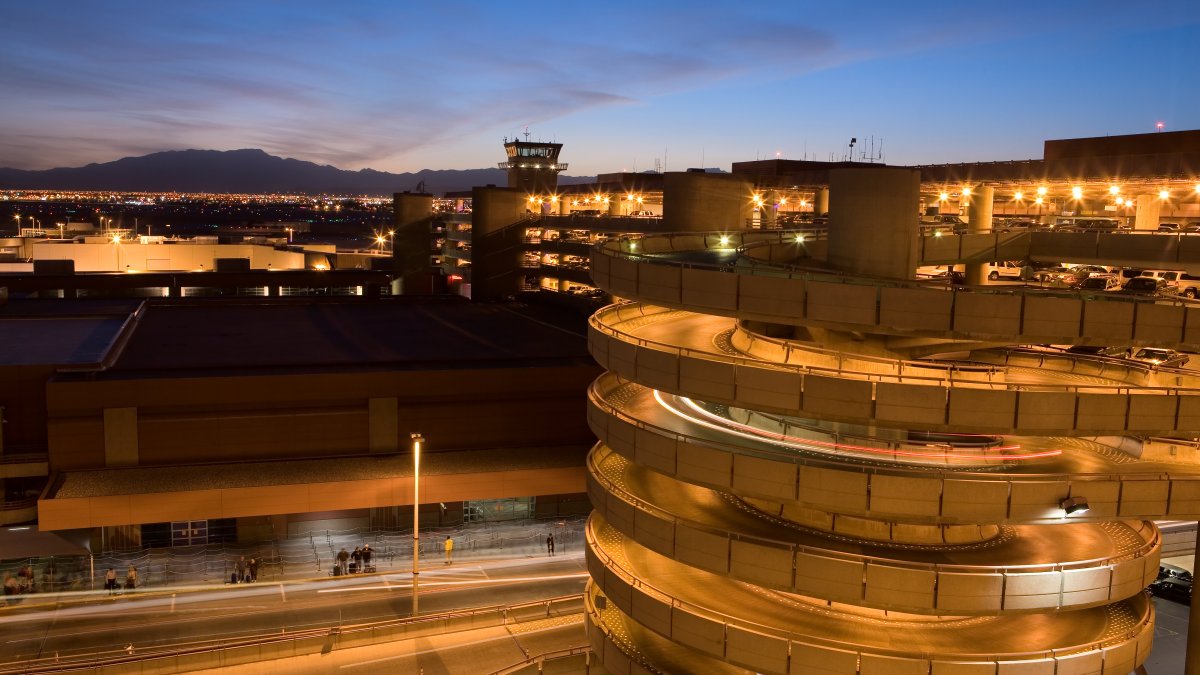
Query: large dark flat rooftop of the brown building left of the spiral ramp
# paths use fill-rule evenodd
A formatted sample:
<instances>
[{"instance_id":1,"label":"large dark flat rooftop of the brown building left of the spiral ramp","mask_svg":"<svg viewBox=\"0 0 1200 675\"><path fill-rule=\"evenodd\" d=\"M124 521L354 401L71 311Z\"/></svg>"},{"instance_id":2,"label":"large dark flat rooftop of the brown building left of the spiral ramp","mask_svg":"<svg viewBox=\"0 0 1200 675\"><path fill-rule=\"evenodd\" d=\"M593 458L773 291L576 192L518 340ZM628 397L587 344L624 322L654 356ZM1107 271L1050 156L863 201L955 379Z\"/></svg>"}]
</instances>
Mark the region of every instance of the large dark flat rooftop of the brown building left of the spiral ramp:
<instances>
[{"instance_id":1,"label":"large dark flat rooftop of the brown building left of the spiral ramp","mask_svg":"<svg viewBox=\"0 0 1200 675\"><path fill-rule=\"evenodd\" d=\"M151 303L110 372L590 360L584 325L464 301Z\"/></svg>"}]
</instances>

